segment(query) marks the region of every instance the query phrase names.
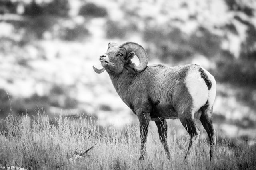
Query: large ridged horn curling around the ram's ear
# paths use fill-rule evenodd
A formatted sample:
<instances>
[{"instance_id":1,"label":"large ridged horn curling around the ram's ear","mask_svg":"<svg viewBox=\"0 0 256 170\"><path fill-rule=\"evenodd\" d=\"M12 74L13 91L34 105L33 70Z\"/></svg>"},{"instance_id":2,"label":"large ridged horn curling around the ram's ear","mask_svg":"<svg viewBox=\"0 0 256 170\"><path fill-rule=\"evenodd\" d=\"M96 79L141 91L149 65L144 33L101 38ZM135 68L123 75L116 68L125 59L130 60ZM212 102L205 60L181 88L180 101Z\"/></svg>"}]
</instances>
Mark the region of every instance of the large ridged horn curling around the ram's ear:
<instances>
[{"instance_id":1,"label":"large ridged horn curling around the ram's ear","mask_svg":"<svg viewBox=\"0 0 256 170\"><path fill-rule=\"evenodd\" d=\"M148 55L147 55L145 49L141 45L134 43L134 42L126 42L126 43L120 45L119 47L124 48L126 50L127 54L133 51L137 55L137 57L140 60L140 64L138 66L136 66L135 63L133 63L134 69L136 71L142 71L147 67Z\"/></svg>"}]
</instances>

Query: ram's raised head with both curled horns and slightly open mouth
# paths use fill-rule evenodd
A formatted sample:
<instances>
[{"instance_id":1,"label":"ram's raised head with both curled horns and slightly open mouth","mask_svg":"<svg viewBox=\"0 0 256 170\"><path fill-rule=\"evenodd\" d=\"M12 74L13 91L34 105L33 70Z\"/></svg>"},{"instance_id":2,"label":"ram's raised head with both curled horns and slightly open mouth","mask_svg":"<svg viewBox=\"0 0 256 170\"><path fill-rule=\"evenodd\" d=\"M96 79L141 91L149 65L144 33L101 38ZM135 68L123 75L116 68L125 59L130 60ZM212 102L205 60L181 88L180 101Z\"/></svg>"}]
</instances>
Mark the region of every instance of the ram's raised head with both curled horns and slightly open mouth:
<instances>
[{"instance_id":1,"label":"ram's raised head with both curled horns and slightly open mouth","mask_svg":"<svg viewBox=\"0 0 256 170\"><path fill-rule=\"evenodd\" d=\"M133 63L134 70L144 70L148 64L148 56L141 45L133 42L126 42L120 46L116 43L108 43L107 52L100 56L100 62L103 68L97 69L93 66L93 69L98 74L104 72L104 70L114 74L120 74L124 66L130 63L134 55L136 55L140 61L138 66Z\"/></svg>"}]
</instances>

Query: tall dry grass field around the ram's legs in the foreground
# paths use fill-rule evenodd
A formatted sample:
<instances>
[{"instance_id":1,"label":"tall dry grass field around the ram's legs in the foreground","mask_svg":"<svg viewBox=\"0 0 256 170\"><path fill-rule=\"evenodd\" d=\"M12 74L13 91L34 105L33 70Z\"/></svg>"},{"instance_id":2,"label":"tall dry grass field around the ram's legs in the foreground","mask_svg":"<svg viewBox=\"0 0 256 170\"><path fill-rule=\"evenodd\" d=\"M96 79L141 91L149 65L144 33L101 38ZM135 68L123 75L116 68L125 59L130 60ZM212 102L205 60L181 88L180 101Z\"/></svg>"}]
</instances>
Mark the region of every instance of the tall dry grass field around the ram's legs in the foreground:
<instances>
[{"instance_id":1,"label":"tall dry grass field around the ram's legs in the foreground","mask_svg":"<svg viewBox=\"0 0 256 170\"><path fill-rule=\"evenodd\" d=\"M97 123L97 122L96 122ZM170 128L170 127L168 127ZM256 145L218 139L212 162L209 142L200 138L190 163L184 160L188 135L168 129L170 160L156 134L150 133L147 157L139 160L138 126L99 128L90 117L50 119L9 115L1 123L0 164L26 169L255 169ZM74 156L82 157L74 159Z\"/></svg>"}]
</instances>

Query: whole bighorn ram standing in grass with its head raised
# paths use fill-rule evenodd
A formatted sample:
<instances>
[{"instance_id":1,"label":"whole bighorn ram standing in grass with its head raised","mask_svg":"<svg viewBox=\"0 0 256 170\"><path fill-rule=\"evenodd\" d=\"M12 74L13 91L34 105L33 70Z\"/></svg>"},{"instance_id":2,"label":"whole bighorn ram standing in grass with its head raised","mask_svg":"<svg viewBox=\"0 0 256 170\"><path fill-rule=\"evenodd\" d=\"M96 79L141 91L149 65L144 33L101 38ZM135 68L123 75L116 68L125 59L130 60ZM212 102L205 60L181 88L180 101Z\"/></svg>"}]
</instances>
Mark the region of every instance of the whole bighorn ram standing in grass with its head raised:
<instances>
[{"instance_id":1,"label":"whole bighorn ram standing in grass with its head raised","mask_svg":"<svg viewBox=\"0 0 256 170\"><path fill-rule=\"evenodd\" d=\"M131 59L136 55L140 64ZM210 160L216 143L212 125L212 106L216 94L214 77L201 66L188 64L176 67L148 64L147 53L137 43L120 46L109 43L107 52L100 56L102 69L93 66L96 73L106 70L123 102L140 121L141 154L144 159L149 121L155 121L159 138L169 158L167 125L165 119L179 118L190 135L185 158L192 154L200 131L195 121L200 120L210 139Z\"/></svg>"}]
</instances>

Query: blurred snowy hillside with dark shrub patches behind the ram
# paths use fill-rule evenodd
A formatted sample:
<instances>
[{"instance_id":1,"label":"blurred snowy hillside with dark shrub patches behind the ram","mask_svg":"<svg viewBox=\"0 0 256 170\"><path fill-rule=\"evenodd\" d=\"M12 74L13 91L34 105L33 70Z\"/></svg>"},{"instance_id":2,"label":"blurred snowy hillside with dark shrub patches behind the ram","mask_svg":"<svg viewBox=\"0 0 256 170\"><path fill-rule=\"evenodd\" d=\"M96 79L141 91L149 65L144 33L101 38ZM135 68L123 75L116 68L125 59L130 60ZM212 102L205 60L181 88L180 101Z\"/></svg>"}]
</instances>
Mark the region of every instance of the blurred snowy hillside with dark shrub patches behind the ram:
<instances>
[{"instance_id":1,"label":"blurred snowy hillside with dark shrub patches behind the ram","mask_svg":"<svg viewBox=\"0 0 256 170\"><path fill-rule=\"evenodd\" d=\"M1 117L45 112L92 114L100 125L136 122L108 75L92 70L108 42L125 41L141 44L149 64L208 69L218 84L218 133L256 137L254 0L0 0Z\"/></svg>"}]
</instances>

